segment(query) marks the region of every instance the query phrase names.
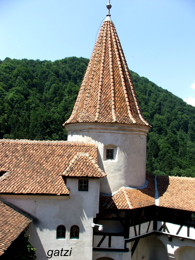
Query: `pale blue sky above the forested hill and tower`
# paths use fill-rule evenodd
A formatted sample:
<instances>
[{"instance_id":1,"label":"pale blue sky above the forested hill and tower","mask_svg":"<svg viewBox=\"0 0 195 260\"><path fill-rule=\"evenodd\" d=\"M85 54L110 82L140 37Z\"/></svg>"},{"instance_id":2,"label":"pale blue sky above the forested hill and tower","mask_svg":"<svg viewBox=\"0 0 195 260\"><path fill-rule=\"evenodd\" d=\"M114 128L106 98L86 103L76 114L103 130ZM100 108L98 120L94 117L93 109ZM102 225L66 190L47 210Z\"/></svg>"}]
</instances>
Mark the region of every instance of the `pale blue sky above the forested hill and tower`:
<instances>
[{"instance_id":1,"label":"pale blue sky above the forested hill and tower","mask_svg":"<svg viewBox=\"0 0 195 260\"><path fill-rule=\"evenodd\" d=\"M0 0L0 59L90 58L107 2ZM110 3L129 69L195 106L195 0Z\"/></svg>"}]
</instances>

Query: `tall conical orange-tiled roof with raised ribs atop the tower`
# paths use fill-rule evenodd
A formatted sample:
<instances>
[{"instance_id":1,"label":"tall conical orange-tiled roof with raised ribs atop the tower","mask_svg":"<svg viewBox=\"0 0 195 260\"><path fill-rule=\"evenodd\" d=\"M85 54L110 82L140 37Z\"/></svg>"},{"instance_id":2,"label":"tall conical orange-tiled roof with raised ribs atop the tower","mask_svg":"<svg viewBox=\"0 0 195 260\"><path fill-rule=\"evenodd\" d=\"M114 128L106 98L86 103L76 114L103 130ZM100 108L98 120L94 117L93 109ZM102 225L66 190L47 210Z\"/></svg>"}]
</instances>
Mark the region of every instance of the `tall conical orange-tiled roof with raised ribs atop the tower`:
<instances>
[{"instance_id":1,"label":"tall conical orange-tiled roof with raised ribs atop the tower","mask_svg":"<svg viewBox=\"0 0 195 260\"><path fill-rule=\"evenodd\" d=\"M138 103L116 29L103 22L69 123L122 123L149 126Z\"/></svg>"}]
</instances>

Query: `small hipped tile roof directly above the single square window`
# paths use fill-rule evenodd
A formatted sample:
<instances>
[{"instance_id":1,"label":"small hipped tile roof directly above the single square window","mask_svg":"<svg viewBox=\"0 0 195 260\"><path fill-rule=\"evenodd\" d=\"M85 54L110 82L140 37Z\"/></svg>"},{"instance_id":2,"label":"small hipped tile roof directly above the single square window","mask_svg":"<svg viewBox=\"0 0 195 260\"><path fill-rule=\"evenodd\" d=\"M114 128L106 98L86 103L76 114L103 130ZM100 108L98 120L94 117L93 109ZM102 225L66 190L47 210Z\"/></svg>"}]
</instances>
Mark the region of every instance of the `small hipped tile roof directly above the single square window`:
<instances>
[{"instance_id":1,"label":"small hipped tile roof directly above the single square window","mask_svg":"<svg viewBox=\"0 0 195 260\"><path fill-rule=\"evenodd\" d=\"M64 176L68 177L104 177L106 174L88 153L78 153L66 170Z\"/></svg>"}]
</instances>

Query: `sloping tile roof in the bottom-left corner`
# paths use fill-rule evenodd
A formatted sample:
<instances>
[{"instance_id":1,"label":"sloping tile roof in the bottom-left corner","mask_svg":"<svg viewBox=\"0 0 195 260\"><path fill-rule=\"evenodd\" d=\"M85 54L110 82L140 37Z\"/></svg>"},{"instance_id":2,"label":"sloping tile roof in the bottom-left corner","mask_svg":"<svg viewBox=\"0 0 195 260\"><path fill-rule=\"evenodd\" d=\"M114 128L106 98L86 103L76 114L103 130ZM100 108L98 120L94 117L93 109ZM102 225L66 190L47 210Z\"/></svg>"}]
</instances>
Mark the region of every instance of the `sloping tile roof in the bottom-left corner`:
<instances>
[{"instance_id":1,"label":"sloping tile roof in the bottom-left corner","mask_svg":"<svg viewBox=\"0 0 195 260\"><path fill-rule=\"evenodd\" d=\"M0 201L0 256L31 222L31 219Z\"/></svg>"}]
</instances>

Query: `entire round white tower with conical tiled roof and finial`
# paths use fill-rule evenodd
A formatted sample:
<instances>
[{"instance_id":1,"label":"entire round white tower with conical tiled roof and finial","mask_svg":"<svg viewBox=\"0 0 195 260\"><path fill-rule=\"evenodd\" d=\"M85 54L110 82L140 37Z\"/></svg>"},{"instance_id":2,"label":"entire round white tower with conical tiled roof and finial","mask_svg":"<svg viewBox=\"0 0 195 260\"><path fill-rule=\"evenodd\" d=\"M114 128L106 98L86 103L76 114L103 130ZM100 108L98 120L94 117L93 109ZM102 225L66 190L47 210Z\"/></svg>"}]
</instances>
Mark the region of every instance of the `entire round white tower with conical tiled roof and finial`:
<instances>
[{"instance_id":1,"label":"entire round white tower with conical tiled roof and finial","mask_svg":"<svg viewBox=\"0 0 195 260\"><path fill-rule=\"evenodd\" d=\"M95 142L98 165L107 174L100 192L144 185L149 124L138 103L125 56L108 14L101 25L70 118L68 141Z\"/></svg>"}]
</instances>

